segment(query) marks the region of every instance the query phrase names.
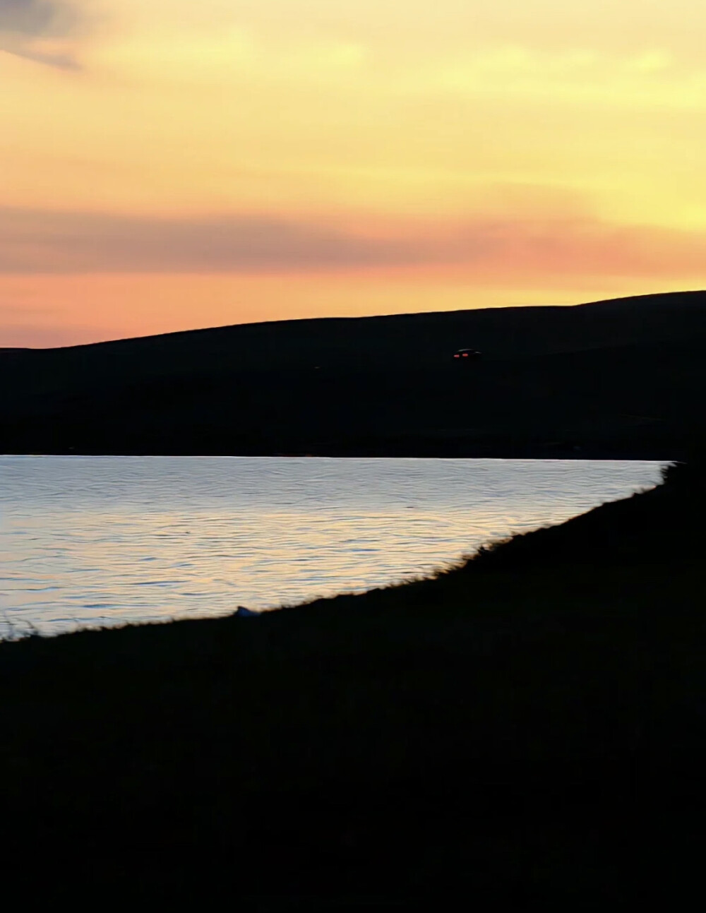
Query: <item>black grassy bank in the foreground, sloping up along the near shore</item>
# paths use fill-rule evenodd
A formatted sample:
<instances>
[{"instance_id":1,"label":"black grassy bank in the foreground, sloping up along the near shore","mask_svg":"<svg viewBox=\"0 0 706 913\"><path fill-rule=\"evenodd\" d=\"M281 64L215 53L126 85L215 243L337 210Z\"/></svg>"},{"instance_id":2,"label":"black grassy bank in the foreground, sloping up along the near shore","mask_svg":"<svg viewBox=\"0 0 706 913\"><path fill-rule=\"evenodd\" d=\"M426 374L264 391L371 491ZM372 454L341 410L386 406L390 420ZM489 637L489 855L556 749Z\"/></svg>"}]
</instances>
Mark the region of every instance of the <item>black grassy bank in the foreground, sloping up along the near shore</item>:
<instances>
[{"instance_id":1,"label":"black grassy bank in the foreground, sloping up along the near shore","mask_svg":"<svg viewBox=\"0 0 706 913\"><path fill-rule=\"evenodd\" d=\"M702 898L704 479L433 581L0 645L5 884L262 910Z\"/></svg>"}]
</instances>

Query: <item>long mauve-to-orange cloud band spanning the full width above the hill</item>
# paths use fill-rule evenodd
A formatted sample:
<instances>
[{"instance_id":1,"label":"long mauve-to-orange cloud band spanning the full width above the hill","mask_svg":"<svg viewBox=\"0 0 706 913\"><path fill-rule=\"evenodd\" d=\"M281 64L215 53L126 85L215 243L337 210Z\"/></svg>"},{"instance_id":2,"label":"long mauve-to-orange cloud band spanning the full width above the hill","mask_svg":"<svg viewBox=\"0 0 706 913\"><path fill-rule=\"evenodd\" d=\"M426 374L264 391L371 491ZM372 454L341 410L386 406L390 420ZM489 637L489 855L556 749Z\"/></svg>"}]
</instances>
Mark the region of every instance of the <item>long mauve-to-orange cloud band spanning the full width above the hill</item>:
<instances>
[{"instance_id":1,"label":"long mauve-to-orange cloud band spanning the full width above the hill","mask_svg":"<svg viewBox=\"0 0 706 913\"><path fill-rule=\"evenodd\" d=\"M154 218L0 208L0 273L286 274L440 268L491 284L564 276L702 277L702 232L590 215L395 227L270 215Z\"/></svg>"}]
</instances>

